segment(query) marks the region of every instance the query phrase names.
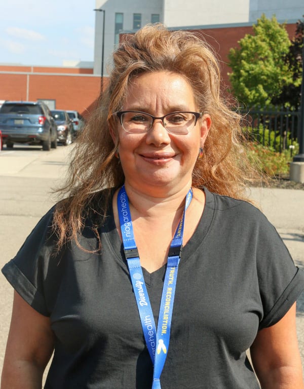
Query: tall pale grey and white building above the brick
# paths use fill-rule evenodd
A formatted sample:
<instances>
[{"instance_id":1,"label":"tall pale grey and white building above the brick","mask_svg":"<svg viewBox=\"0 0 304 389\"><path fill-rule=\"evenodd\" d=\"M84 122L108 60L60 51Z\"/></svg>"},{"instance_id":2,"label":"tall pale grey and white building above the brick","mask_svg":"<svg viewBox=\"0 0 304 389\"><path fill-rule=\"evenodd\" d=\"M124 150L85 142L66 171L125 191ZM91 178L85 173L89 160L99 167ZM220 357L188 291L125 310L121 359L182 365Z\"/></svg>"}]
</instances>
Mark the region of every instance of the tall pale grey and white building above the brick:
<instances>
[{"instance_id":1,"label":"tall pale grey and white building above the brick","mask_svg":"<svg viewBox=\"0 0 304 389\"><path fill-rule=\"evenodd\" d=\"M180 29L250 27L264 13L294 24L304 14L303 0L96 0L94 74L107 74L119 33L162 22ZM103 36L104 17L104 36ZM209 33L209 32L208 32ZM236 41L237 42L237 41ZM102 61L103 47L103 61Z\"/></svg>"}]
</instances>

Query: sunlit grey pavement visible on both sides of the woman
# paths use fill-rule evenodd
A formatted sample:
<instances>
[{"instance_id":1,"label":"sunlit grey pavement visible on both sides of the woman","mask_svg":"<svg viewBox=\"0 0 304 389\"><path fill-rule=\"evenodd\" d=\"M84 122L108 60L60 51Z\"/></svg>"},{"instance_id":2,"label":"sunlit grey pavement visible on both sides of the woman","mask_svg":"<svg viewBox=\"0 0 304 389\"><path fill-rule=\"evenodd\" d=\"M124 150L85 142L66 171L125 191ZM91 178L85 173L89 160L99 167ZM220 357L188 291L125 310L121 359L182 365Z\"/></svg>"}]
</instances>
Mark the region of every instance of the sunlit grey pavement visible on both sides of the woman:
<instances>
[{"instance_id":1,"label":"sunlit grey pavement visible on both sides of the woman","mask_svg":"<svg viewBox=\"0 0 304 389\"><path fill-rule=\"evenodd\" d=\"M64 179L71 148L42 151L24 146L0 152L0 268L56 202L50 190ZM304 267L304 190L251 188L251 197L276 226L296 264ZM0 295L1 371L13 295L2 274ZM297 304L297 331L304 364L304 293Z\"/></svg>"}]
</instances>

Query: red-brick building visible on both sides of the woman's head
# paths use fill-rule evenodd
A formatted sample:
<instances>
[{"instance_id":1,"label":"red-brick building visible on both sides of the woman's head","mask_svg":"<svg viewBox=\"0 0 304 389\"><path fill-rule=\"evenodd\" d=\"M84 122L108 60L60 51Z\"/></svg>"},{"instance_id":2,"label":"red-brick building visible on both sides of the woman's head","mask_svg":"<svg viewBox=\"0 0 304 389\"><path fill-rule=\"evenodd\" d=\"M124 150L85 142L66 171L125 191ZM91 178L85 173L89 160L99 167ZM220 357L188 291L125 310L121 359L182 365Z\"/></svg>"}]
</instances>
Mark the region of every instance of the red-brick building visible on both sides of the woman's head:
<instances>
[{"instance_id":1,"label":"red-brick building visible on both sides of the woman's head","mask_svg":"<svg viewBox=\"0 0 304 389\"><path fill-rule=\"evenodd\" d=\"M286 24L290 37L295 23ZM172 28L174 29L174 28ZM203 36L214 48L221 62L222 80L229 86L227 54L246 33L252 33L247 23L188 28ZM78 110L87 116L100 93L100 74L92 68L45 67L0 64L1 100L44 100L51 108ZM104 85L106 77L104 77Z\"/></svg>"}]
</instances>

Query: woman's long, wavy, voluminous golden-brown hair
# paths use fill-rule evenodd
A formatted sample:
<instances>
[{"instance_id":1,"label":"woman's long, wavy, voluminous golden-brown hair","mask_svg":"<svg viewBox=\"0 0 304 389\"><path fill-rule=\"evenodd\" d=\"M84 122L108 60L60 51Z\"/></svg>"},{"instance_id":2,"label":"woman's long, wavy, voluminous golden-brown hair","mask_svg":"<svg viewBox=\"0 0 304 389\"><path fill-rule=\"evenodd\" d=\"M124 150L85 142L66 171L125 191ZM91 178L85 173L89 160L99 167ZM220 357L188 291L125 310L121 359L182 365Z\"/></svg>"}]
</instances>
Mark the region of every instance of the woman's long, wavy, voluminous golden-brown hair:
<instances>
[{"instance_id":1,"label":"woman's long, wavy, voluminous golden-brown hair","mask_svg":"<svg viewBox=\"0 0 304 389\"><path fill-rule=\"evenodd\" d=\"M161 24L146 25L127 35L113 53L107 88L73 147L66 183L58 190L64 200L54 212L58 247L70 239L78 242L77 235L89 215L98 215L99 220L100 215L101 220L106 217L111 192L102 204L95 201L96 192L119 187L125 179L115 158L118 144L110 136L110 129L117 131L118 127L113 113L121 109L132 77L164 70L182 75L193 88L198 110L211 116L203 158L193 171L193 186L248 200L245 182L254 171L244 151L240 115L222 97L220 67L212 49L195 33L170 31ZM96 223L92 222L92 228L97 234Z\"/></svg>"}]
</instances>

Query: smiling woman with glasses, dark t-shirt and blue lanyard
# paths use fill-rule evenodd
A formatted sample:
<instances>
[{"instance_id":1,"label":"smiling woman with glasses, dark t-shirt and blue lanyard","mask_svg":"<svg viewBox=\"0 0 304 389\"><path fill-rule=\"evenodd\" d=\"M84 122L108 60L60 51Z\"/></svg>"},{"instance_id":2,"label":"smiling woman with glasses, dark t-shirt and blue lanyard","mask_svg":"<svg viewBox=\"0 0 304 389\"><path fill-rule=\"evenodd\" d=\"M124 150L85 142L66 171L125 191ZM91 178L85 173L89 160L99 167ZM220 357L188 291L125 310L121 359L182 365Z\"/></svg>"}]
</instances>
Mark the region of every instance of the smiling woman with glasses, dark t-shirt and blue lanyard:
<instances>
[{"instance_id":1,"label":"smiling woman with glasses, dark t-shirt and blue lanyard","mask_svg":"<svg viewBox=\"0 0 304 389\"><path fill-rule=\"evenodd\" d=\"M3 269L2 388L41 387L54 351L46 388L252 389L250 348L262 388L303 389L303 275L242 197L239 116L212 52L146 26L113 59L68 196Z\"/></svg>"}]
</instances>

